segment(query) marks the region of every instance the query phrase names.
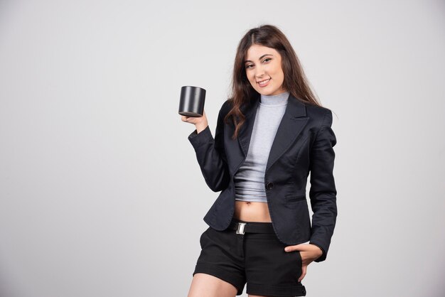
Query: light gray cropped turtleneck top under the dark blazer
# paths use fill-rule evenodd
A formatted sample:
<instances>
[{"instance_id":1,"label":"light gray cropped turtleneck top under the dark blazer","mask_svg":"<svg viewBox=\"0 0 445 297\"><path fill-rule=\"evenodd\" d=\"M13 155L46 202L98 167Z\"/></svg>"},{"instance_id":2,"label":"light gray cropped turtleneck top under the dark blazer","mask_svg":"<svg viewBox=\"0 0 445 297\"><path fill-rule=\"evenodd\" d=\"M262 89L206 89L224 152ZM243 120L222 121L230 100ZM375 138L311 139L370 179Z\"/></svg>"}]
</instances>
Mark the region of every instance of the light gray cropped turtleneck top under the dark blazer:
<instances>
[{"instance_id":1,"label":"light gray cropped turtleneck top under the dark blazer","mask_svg":"<svg viewBox=\"0 0 445 297\"><path fill-rule=\"evenodd\" d=\"M249 151L234 176L235 200L267 202L264 173L270 148L286 110L289 92L261 95L254 120Z\"/></svg>"}]
</instances>

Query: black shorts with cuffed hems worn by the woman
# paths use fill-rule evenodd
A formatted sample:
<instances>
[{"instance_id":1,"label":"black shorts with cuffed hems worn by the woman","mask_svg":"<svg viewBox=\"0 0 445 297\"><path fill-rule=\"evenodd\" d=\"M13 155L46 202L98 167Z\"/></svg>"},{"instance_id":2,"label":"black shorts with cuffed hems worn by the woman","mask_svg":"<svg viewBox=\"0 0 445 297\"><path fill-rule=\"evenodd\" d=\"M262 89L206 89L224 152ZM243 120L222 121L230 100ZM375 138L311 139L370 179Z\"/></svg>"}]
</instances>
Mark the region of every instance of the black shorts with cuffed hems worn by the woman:
<instances>
[{"instance_id":1,"label":"black shorts with cuffed hems worn by the woman","mask_svg":"<svg viewBox=\"0 0 445 297\"><path fill-rule=\"evenodd\" d=\"M234 225L242 227L240 222L246 224L244 234L232 229ZM242 229L239 232L242 233ZM271 222L245 222L234 218L231 227L224 231L208 227L201 234L200 246L193 276L204 273L223 279L237 288L237 296L242 294L246 283L248 294L306 296L306 289L298 281L300 252L284 251L287 244L279 241Z\"/></svg>"}]
</instances>

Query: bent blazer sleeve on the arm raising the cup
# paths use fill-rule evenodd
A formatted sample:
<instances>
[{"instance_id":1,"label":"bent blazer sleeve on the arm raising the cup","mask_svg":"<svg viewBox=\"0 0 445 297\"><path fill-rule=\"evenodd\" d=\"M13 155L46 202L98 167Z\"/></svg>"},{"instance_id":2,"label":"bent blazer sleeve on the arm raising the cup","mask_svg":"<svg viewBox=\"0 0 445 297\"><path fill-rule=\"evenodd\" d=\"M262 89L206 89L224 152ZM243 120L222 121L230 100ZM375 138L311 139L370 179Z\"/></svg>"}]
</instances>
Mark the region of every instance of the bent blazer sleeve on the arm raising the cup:
<instances>
[{"instance_id":1,"label":"bent blazer sleeve on the arm raising the cup","mask_svg":"<svg viewBox=\"0 0 445 297\"><path fill-rule=\"evenodd\" d=\"M218 114L215 139L213 139L209 126L205 127L200 133L197 133L195 129L195 131L188 136L188 140L195 149L196 158L198 159L205 183L207 183L213 192L224 190L230 183L230 174L224 148L223 107L221 107Z\"/></svg>"}]
</instances>

